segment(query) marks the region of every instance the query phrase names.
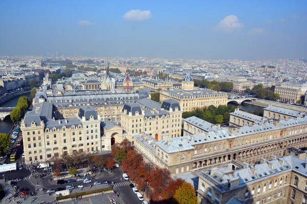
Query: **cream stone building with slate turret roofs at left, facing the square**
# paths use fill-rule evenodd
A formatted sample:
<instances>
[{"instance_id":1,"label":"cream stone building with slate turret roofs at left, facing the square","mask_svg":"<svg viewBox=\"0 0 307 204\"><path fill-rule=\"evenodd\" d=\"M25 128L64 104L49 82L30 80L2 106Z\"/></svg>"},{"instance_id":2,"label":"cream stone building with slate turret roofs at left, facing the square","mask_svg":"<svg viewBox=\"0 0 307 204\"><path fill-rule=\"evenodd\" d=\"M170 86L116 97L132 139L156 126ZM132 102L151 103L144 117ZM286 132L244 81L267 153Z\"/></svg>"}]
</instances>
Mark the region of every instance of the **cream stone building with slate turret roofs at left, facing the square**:
<instances>
[{"instance_id":1,"label":"cream stone building with slate turret roofs at left, facing the square","mask_svg":"<svg viewBox=\"0 0 307 204\"><path fill-rule=\"evenodd\" d=\"M101 151L100 116L80 107L76 118L54 119L52 104L42 102L21 121L25 162L43 162L75 151Z\"/></svg>"}]
</instances>

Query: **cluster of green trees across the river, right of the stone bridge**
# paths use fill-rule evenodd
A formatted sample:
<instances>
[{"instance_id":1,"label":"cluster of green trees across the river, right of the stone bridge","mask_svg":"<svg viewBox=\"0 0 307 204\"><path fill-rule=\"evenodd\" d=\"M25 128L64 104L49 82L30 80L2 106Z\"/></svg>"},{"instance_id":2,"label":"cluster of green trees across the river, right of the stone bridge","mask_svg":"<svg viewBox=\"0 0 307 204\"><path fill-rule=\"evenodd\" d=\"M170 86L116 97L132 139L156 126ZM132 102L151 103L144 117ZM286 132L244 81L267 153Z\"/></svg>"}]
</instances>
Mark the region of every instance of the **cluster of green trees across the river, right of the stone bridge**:
<instances>
[{"instance_id":1,"label":"cluster of green trees across the river, right of the stone bridge","mask_svg":"<svg viewBox=\"0 0 307 204\"><path fill-rule=\"evenodd\" d=\"M257 98L269 99L269 100L278 100L280 95L274 93L275 86L263 88L262 84L254 86L253 89L246 89L245 92L256 95Z\"/></svg>"}]
</instances>

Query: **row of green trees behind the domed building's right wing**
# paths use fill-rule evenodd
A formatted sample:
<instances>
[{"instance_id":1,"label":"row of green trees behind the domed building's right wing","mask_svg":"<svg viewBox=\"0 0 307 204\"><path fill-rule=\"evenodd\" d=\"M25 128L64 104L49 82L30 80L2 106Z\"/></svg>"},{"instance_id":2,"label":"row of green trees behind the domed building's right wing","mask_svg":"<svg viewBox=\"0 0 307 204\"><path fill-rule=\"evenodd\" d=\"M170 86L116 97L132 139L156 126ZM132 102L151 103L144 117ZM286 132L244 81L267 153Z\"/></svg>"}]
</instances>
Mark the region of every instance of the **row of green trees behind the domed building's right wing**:
<instances>
[{"instance_id":1,"label":"row of green trees behind the domed building's right wing","mask_svg":"<svg viewBox=\"0 0 307 204\"><path fill-rule=\"evenodd\" d=\"M226 91L229 92L233 89L232 82L218 82L218 81L208 81L208 80L199 80L194 79L194 86L200 88L207 88L214 91Z\"/></svg>"}]
</instances>

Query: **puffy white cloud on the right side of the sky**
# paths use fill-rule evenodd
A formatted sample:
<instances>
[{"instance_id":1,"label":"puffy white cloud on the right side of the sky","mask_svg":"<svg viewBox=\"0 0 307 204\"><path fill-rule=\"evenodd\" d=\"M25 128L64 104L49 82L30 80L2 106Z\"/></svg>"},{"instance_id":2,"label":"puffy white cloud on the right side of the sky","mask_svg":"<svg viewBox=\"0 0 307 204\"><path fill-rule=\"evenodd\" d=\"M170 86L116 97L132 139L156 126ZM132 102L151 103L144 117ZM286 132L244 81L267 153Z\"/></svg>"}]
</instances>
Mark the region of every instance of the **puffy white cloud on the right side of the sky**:
<instances>
[{"instance_id":1,"label":"puffy white cloud on the right side of the sky","mask_svg":"<svg viewBox=\"0 0 307 204\"><path fill-rule=\"evenodd\" d=\"M238 21L239 19L235 15L226 16L216 25L216 27L214 27L214 31L233 32L237 29L243 28L243 23Z\"/></svg>"}]
</instances>

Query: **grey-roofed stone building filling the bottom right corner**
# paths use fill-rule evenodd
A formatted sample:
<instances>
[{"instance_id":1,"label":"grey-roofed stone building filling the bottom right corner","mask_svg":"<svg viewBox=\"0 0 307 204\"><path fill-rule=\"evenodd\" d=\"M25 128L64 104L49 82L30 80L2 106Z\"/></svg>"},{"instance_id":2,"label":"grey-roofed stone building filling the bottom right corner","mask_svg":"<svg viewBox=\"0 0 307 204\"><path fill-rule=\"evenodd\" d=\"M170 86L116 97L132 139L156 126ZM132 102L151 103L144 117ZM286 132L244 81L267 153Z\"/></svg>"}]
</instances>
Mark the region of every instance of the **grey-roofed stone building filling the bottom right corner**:
<instances>
[{"instance_id":1,"label":"grey-roofed stone building filling the bottom right corner","mask_svg":"<svg viewBox=\"0 0 307 204\"><path fill-rule=\"evenodd\" d=\"M247 204L305 204L307 163L306 153L303 155L303 159L292 155L277 159L272 155L270 161L261 158L260 164L246 165L242 169L234 170L229 164L227 167L202 171L197 174L198 201L201 204L222 204L235 197Z\"/></svg>"}]
</instances>

